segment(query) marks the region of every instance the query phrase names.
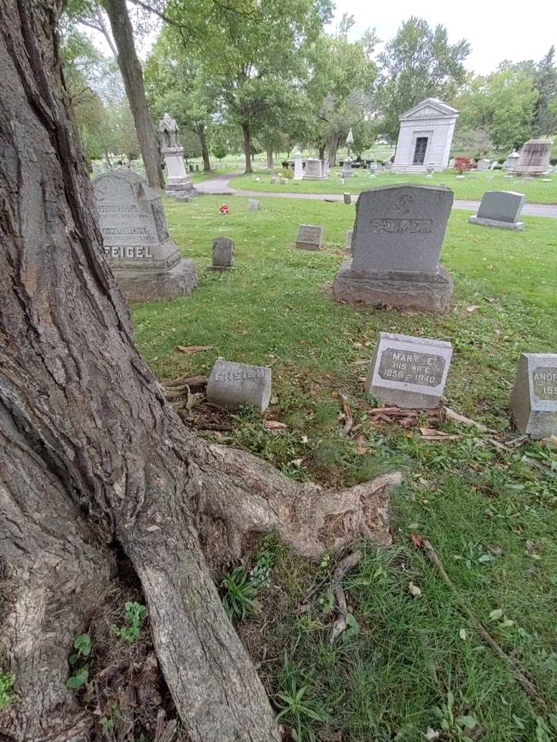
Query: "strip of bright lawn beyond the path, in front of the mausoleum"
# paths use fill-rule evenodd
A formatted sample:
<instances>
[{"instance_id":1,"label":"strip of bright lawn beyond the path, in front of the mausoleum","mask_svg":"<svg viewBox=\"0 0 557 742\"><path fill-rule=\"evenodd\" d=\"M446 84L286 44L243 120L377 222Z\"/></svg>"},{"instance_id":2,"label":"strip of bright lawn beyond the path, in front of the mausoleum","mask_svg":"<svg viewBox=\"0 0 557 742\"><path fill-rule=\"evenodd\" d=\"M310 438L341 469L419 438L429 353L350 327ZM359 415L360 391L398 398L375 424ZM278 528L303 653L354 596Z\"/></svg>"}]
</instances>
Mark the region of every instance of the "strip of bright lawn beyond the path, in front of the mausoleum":
<instances>
[{"instance_id":1,"label":"strip of bright lawn beyond the path, in front of the mausoleum","mask_svg":"<svg viewBox=\"0 0 557 742\"><path fill-rule=\"evenodd\" d=\"M414 175L406 173L382 173L375 178L369 178L365 171L354 170L354 177L347 178L342 185L339 178L341 168L331 171L329 180L289 180L287 185L270 183L268 171L257 171L261 177L259 183L255 183L251 175L241 175L232 180L232 188L240 188L244 191L269 191L270 193L359 193L364 188L374 185L388 185L391 183L423 183L424 185L439 185L446 183L455 191L455 198L480 201L484 191L503 190L518 191L526 194L527 203L557 203L557 174L551 177L551 183L541 183L541 178L534 178L524 183L521 178L504 180L504 171L494 170L488 172L477 172L472 175L473 180L466 174L464 180L457 180L455 171L434 173L431 180L426 180L425 175ZM487 176L493 180L486 180Z\"/></svg>"}]
</instances>

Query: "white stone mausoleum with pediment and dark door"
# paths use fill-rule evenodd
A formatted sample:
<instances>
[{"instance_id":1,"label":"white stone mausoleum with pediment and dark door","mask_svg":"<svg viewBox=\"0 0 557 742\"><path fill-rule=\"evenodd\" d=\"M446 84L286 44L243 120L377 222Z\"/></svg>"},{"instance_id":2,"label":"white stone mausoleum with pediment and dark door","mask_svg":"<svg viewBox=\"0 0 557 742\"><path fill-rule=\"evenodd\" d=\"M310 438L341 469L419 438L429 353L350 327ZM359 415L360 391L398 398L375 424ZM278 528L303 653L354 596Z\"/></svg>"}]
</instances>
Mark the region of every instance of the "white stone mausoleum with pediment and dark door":
<instances>
[{"instance_id":1,"label":"white stone mausoleum with pediment and dark door","mask_svg":"<svg viewBox=\"0 0 557 742\"><path fill-rule=\"evenodd\" d=\"M394 171L446 170L457 118L457 109L437 98L427 98L400 116Z\"/></svg>"}]
</instances>

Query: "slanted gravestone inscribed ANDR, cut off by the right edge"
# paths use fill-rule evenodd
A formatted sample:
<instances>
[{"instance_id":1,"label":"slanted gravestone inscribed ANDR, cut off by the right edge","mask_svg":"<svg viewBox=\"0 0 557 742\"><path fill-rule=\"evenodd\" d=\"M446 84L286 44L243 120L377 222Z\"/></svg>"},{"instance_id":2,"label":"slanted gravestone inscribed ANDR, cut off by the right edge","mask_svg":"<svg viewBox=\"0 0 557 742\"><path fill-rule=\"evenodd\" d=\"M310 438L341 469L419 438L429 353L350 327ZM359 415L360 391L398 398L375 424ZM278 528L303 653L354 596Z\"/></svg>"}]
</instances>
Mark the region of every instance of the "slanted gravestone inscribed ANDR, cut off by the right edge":
<instances>
[{"instance_id":1,"label":"slanted gravestone inscribed ANDR, cut off by the right edge","mask_svg":"<svg viewBox=\"0 0 557 742\"><path fill-rule=\"evenodd\" d=\"M511 395L512 416L532 438L557 436L557 354L523 353Z\"/></svg>"}]
</instances>

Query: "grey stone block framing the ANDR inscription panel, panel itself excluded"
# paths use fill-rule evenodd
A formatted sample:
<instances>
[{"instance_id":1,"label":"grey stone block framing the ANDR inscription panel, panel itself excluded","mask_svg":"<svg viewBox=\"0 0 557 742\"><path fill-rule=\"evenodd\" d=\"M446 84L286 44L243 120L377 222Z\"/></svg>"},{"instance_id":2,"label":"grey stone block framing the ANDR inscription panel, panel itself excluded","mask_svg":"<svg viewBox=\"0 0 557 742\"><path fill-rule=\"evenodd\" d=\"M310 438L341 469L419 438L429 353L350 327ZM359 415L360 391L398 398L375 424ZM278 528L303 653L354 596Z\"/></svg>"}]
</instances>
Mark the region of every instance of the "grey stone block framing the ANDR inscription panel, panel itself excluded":
<instances>
[{"instance_id":1,"label":"grey stone block framing the ANDR inscription panel, panel itself excluded","mask_svg":"<svg viewBox=\"0 0 557 742\"><path fill-rule=\"evenodd\" d=\"M557 374L557 355L522 353L510 398L515 426L533 439L557 435L557 395L554 395L553 400L535 395L532 377L538 368L553 369Z\"/></svg>"}]
</instances>

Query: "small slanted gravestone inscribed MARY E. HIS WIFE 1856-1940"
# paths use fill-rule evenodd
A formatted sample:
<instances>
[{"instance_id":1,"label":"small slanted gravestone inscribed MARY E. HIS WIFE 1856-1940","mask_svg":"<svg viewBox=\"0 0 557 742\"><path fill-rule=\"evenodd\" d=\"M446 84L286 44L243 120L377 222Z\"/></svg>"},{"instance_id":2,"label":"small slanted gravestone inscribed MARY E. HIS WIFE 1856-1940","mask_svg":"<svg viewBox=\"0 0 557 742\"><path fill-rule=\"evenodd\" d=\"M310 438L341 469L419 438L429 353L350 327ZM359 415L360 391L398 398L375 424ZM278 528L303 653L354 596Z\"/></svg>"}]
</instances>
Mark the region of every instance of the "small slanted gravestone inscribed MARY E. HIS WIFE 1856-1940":
<instances>
[{"instance_id":1,"label":"small slanted gravestone inscribed MARY E. HIS WIFE 1856-1940","mask_svg":"<svg viewBox=\"0 0 557 742\"><path fill-rule=\"evenodd\" d=\"M437 407L451 357L446 341L380 332L365 391L398 407Z\"/></svg>"}]
</instances>

